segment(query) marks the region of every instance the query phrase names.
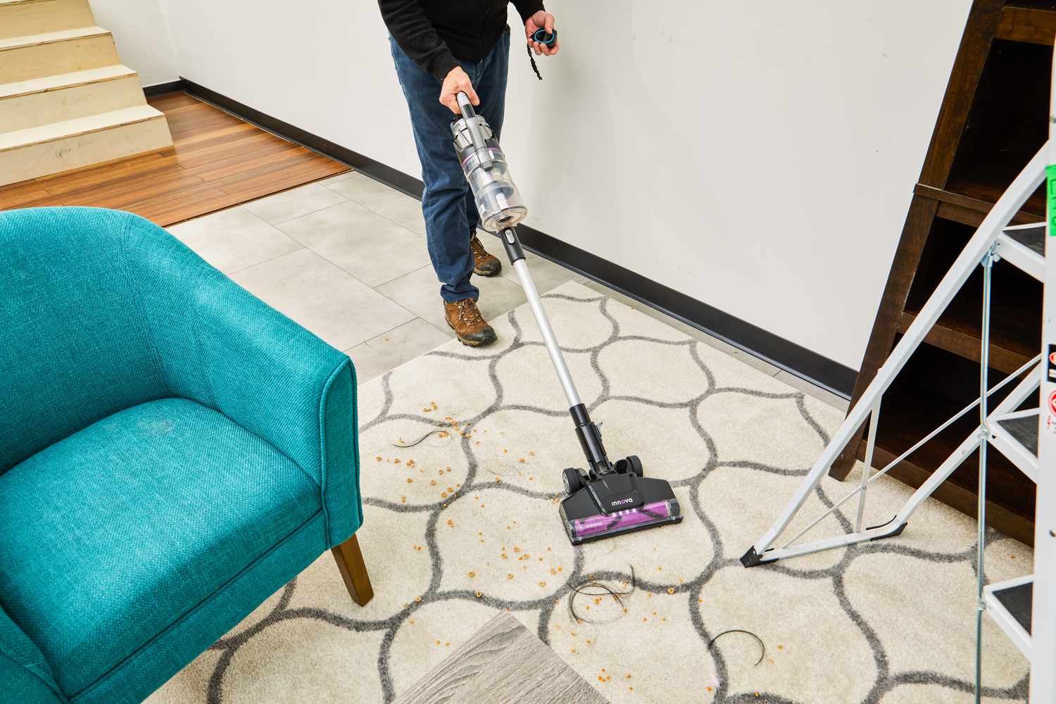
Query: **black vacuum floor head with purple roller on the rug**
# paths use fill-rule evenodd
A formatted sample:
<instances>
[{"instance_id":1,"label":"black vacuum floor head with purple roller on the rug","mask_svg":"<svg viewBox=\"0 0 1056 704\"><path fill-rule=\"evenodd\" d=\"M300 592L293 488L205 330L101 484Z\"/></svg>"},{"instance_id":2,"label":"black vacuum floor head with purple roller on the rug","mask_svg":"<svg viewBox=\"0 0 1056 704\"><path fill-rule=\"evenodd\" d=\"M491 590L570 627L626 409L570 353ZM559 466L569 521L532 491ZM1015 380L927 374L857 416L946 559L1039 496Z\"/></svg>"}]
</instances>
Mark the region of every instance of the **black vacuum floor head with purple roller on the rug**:
<instances>
[{"instance_id":1,"label":"black vacuum floor head with purple roller on the rug","mask_svg":"<svg viewBox=\"0 0 1056 704\"><path fill-rule=\"evenodd\" d=\"M641 462L634 456L592 478L565 470L565 491L561 521L572 545L682 521L671 484L641 476Z\"/></svg>"}]
</instances>

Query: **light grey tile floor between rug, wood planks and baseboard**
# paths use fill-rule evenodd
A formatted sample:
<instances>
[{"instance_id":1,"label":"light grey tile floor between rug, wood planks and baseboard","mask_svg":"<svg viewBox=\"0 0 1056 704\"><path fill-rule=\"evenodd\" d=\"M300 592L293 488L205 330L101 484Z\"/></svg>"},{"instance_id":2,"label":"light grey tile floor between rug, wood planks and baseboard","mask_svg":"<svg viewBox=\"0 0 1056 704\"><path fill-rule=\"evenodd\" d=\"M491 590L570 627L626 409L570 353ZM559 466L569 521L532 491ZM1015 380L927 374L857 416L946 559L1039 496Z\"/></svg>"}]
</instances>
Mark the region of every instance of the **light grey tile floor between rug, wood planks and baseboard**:
<instances>
[{"instance_id":1,"label":"light grey tile floor between rug, wood planks and baseboard","mask_svg":"<svg viewBox=\"0 0 1056 704\"><path fill-rule=\"evenodd\" d=\"M345 350L363 383L453 337L426 251L415 198L350 172L169 228L206 261L320 338ZM486 318L525 302L502 246L502 275L474 277ZM528 254L541 293L579 281L846 411L847 401L705 332Z\"/></svg>"}]
</instances>

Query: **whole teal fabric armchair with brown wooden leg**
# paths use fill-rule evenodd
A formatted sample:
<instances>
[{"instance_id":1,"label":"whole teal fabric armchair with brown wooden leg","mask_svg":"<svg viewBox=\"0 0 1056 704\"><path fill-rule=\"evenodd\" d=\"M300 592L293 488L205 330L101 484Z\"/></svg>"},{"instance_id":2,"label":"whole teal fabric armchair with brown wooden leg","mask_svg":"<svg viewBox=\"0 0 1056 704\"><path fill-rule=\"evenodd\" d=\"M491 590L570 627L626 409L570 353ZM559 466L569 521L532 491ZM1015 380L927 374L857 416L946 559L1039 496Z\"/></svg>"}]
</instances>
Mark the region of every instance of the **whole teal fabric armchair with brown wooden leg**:
<instances>
[{"instance_id":1,"label":"whole teal fabric armchair with brown wooden leg","mask_svg":"<svg viewBox=\"0 0 1056 704\"><path fill-rule=\"evenodd\" d=\"M0 213L0 701L138 702L332 549L348 358L130 213Z\"/></svg>"}]
</instances>

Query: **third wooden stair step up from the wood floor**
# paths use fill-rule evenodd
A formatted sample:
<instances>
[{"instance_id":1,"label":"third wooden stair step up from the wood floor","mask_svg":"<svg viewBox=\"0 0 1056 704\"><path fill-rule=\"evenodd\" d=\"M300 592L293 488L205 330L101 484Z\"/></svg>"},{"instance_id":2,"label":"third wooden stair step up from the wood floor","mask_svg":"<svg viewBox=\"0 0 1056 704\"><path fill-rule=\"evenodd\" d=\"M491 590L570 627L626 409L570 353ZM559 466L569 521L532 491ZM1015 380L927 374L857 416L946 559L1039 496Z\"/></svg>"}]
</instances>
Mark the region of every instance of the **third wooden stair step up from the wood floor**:
<instances>
[{"instance_id":1,"label":"third wooden stair step up from the wood floor","mask_svg":"<svg viewBox=\"0 0 1056 704\"><path fill-rule=\"evenodd\" d=\"M109 30L83 26L0 39L0 83L120 63Z\"/></svg>"}]
</instances>

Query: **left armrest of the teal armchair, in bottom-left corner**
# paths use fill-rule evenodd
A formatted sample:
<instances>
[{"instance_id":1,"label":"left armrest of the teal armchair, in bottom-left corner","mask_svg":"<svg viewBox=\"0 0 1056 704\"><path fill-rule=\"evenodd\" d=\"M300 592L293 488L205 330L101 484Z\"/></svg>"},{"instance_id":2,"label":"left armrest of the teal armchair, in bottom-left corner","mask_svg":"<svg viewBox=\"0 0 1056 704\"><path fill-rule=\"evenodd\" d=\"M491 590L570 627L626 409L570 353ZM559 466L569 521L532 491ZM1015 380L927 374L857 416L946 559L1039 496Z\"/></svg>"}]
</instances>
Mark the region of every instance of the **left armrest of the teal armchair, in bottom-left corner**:
<instances>
[{"instance_id":1,"label":"left armrest of the teal armchair, in bottom-left corner","mask_svg":"<svg viewBox=\"0 0 1056 704\"><path fill-rule=\"evenodd\" d=\"M65 704L40 649L0 609L0 702Z\"/></svg>"}]
</instances>

